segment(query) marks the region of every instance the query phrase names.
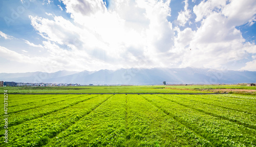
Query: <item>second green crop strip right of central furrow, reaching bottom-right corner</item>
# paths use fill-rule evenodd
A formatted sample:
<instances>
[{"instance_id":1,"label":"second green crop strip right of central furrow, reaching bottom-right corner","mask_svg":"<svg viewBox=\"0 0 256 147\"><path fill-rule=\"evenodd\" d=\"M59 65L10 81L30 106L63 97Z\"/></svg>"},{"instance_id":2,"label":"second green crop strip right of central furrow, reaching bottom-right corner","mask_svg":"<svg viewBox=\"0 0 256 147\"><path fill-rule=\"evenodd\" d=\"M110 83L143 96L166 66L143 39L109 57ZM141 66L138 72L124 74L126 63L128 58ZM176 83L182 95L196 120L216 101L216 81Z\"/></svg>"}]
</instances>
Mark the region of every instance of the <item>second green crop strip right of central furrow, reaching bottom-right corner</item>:
<instances>
[{"instance_id":1,"label":"second green crop strip right of central furrow, reaching bottom-right corner","mask_svg":"<svg viewBox=\"0 0 256 147\"><path fill-rule=\"evenodd\" d=\"M143 97L215 146L254 146L256 144L254 129L182 106L156 95Z\"/></svg>"}]
</instances>

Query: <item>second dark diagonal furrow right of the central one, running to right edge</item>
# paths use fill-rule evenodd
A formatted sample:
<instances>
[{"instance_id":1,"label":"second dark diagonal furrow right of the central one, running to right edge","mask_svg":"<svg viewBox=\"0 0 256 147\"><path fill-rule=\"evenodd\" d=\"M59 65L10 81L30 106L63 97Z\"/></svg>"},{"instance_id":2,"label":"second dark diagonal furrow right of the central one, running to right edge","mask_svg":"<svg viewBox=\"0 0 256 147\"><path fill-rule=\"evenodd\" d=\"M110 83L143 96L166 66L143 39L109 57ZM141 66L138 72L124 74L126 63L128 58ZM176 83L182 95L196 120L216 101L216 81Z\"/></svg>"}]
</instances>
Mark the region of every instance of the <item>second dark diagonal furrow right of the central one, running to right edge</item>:
<instances>
[{"instance_id":1,"label":"second dark diagonal furrow right of the central one, running to right edge","mask_svg":"<svg viewBox=\"0 0 256 147\"><path fill-rule=\"evenodd\" d=\"M228 117L221 116L221 115L218 115L218 114L214 114L214 113L211 113L211 112L207 112L207 111L204 111L204 110L202 110L202 109L194 108L194 107L191 107L191 106L188 106L188 105L185 105L185 104L176 102L176 101L174 101L174 100L170 100L170 99L164 98L164 97L162 97L162 96L159 96L159 97L160 97L160 98L163 98L163 99L165 99L165 100L174 102L174 103L176 103L176 104L179 104L179 105L181 105L181 106L184 106L184 107L187 107L187 108L190 108L190 109L194 109L194 110L199 111L199 112L203 112L203 113L208 114L208 115L210 115L210 116L217 117L217 118L222 119L222 120L227 120L227 121L230 121L230 122L233 122L233 123L237 123L237 124L239 124L239 125L243 125L243 126L248 127L248 128L250 128L250 129L254 129L254 130L256 129L255 126L242 123L242 122L240 122L239 120L232 120L232 119L229 119ZM177 96L177 97L179 97L179 96ZM186 99L186 98L183 98L183 97L179 97L179 98ZM186 99L186 100L190 100L190 99ZM197 101L196 101L196 102L197 102Z\"/></svg>"}]
</instances>

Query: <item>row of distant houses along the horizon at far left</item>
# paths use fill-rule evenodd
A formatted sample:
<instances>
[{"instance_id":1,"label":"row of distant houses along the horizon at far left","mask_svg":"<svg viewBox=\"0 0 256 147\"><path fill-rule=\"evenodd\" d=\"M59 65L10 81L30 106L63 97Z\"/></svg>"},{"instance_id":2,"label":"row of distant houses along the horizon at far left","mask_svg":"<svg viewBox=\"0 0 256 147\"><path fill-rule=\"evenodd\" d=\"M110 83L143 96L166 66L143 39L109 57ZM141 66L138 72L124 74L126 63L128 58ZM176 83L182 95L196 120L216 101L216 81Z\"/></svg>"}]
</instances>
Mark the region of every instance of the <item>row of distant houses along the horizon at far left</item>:
<instances>
[{"instance_id":1,"label":"row of distant houses along the horizon at far left","mask_svg":"<svg viewBox=\"0 0 256 147\"><path fill-rule=\"evenodd\" d=\"M80 84L67 84L67 83L22 83L22 82L7 82L0 81L0 86L80 86Z\"/></svg>"}]
</instances>

